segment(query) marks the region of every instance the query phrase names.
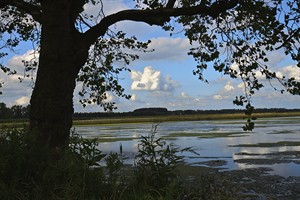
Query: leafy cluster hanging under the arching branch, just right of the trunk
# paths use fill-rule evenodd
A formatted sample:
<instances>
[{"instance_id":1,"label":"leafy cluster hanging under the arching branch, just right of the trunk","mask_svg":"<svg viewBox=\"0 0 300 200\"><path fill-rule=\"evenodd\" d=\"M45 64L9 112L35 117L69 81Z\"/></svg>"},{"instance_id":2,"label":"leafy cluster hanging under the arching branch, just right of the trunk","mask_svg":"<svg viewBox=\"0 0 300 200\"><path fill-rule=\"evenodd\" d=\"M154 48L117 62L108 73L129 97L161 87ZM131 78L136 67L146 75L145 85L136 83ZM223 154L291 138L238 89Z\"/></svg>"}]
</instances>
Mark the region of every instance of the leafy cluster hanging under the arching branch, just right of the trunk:
<instances>
[{"instance_id":1,"label":"leafy cluster hanging under the arching branch, just right of the trunk","mask_svg":"<svg viewBox=\"0 0 300 200\"><path fill-rule=\"evenodd\" d=\"M106 101L109 92L129 99L130 95L124 94L119 84L118 74L124 70L130 71L126 66L139 58L128 50L146 51L150 43L139 42L136 37L128 38L123 32L111 32L109 35L109 38L99 38L94 43L89 59L78 75L77 80L83 83L79 95L84 107L86 104L98 104L105 110L116 109L114 102Z\"/></svg>"}]
</instances>

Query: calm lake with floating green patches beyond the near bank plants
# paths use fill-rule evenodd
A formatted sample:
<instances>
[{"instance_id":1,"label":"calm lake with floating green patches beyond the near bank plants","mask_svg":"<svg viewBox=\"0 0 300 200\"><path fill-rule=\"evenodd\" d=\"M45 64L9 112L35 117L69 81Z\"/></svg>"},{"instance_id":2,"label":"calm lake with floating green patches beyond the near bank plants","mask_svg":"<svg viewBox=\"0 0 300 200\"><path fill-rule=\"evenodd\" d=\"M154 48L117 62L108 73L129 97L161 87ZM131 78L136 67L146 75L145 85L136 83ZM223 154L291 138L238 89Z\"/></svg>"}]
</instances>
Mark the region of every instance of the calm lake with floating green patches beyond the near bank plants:
<instances>
[{"instance_id":1,"label":"calm lake with floating green patches beyond the near bank plants","mask_svg":"<svg viewBox=\"0 0 300 200\"><path fill-rule=\"evenodd\" d=\"M269 174L300 176L300 117L261 118L252 132L244 132L244 120L163 122L157 136L181 148L193 147L200 155L185 153L190 165L210 166L220 171L267 167ZM153 124L77 126L84 138L99 138L105 153L123 153L132 164L142 135Z\"/></svg>"}]
</instances>

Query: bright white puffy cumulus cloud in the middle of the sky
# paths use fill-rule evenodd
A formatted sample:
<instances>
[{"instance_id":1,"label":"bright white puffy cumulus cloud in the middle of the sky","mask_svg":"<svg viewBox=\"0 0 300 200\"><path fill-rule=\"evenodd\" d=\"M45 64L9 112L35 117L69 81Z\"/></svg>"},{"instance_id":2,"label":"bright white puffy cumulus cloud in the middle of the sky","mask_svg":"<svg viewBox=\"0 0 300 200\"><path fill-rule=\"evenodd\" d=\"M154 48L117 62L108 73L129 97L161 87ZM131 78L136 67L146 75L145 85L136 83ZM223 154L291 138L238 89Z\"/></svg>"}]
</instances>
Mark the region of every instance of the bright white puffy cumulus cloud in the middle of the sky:
<instances>
[{"instance_id":1,"label":"bright white puffy cumulus cloud in the middle of the sky","mask_svg":"<svg viewBox=\"0 0 300 200\"><path fill-rule=\"evenodd\" d=\"M151 66L144 68L143 72L131 71L131 90L171 92L178 87L178 83L170 76L162 76L161 72Z\"/></svg>"}]
</instances>

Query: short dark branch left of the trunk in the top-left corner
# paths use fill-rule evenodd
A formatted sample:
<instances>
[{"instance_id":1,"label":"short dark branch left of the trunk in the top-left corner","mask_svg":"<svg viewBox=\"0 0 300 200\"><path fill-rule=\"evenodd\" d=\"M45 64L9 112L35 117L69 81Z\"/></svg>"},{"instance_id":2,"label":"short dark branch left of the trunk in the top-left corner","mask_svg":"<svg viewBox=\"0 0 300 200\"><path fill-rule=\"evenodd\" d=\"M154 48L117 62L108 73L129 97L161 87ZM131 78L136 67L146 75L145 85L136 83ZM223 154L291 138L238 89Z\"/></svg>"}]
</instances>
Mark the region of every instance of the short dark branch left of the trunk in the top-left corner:
<instances>
[{"instance_id":1,"label":"short dark branch left of the trunk in the top-left corner","mask_svg":"<svg viewBox=\"0 0 300 200\"><path fill-rule=\"evenodd\" d=\"M30 3L27 3L23 0L1 0L0 1L0 9L5 8L6 6L13 6L16 7L27 14L31 15L32 18L41 23L42 22L42 12L41 8L36 5L32 5Z\"/></svg>"}]
</instances>

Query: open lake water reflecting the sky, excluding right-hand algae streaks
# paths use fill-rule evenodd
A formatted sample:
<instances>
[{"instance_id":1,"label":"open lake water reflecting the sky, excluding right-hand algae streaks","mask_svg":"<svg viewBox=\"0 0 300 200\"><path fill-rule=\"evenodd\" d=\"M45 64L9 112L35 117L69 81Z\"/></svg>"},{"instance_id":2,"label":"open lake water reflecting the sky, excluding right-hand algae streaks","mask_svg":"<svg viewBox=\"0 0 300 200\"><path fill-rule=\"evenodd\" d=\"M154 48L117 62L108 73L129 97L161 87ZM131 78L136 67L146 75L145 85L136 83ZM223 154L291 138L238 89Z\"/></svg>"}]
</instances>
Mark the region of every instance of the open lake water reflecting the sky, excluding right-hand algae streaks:
<instances>
[{"instance_id":1,"label":"open lake water reflecting the sky, excluding right-hand algae streaks","mask_svg":"<svg viewBox=\"0 0 300 200\"><path fill-rule=\"evenodd\" d=\"M222 168L245 169L252 167L271 167L274 171L270 174L282 176L300 176L300 165L295 163L281 163L273 165L246 165L236 163L234 160L251 158L249 155L236 155L243 152L248 154L267 154L273 152L300 151L300 146L281 147L229 147L238 144L275 143L280 141L300 141L299 117L272 118L257 120L253 132L242 132L243 121L220 120L220 121L187 121L187 122L165 122L158 126L158 136L168 136L174 133L239 133L233 137L210 138L200 137L177 137L169 142L184 147L193 147L199 154L185 153L186 161L198 163L212 159L226 160L227 164ZM137 144L141 135L151 132L152 124L119 124L109 126L79 126L75 130L86 138L132 138L132 140L103 142L99 148L106 153L118 152L122 144L123 151L128 155L127 162L133 162L134 153L137 152ZM234 137L239 136L239 137ZM174 137L172 137L174 139ZM193 158L189 158L193 157ZM255 157L263 158L263 157Z\"/></svg>"}]
</instances>

